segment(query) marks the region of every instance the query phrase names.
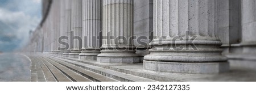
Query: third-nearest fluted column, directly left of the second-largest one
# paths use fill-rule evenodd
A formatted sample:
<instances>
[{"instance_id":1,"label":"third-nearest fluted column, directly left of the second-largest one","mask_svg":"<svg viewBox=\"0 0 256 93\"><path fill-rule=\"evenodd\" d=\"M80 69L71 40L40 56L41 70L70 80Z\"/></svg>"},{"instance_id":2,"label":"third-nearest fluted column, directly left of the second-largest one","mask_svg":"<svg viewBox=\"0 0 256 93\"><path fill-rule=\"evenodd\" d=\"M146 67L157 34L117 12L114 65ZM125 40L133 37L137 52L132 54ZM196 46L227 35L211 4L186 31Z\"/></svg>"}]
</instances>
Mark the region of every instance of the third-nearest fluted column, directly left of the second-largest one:
<instances>
[{"instance_id":1,"label":"third-nearest fluted column, directly left of the second-largest one","mask_svg":"<svg viewBox=\"0 0 256 93\"><path fill-rule=\"evenodd\" d=\"M82 1L82 53L80 60L97 60L101 47L102 0Z\"/></svg>"}]
</instances>

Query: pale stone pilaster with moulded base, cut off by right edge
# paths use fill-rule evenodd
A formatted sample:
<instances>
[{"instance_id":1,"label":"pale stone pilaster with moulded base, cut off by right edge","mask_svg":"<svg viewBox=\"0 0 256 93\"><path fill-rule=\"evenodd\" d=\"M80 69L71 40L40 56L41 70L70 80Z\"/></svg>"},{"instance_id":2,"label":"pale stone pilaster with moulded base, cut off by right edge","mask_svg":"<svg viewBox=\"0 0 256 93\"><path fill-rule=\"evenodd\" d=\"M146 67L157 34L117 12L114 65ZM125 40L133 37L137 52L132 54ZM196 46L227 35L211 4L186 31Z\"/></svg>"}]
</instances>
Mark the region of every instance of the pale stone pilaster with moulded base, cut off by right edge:
<instances>
[{"instance_id":1,"label":"pale stone pilaster with moulded base, cut off by right edge","mask_svg":"<svg viewBox=\"0 0 256 93\"><path fill-rule=\"evenodd\" d=\"M242 0L242 41L229 57L231 67L256 71L256 1Z\"/></svg>"}]
</instances>

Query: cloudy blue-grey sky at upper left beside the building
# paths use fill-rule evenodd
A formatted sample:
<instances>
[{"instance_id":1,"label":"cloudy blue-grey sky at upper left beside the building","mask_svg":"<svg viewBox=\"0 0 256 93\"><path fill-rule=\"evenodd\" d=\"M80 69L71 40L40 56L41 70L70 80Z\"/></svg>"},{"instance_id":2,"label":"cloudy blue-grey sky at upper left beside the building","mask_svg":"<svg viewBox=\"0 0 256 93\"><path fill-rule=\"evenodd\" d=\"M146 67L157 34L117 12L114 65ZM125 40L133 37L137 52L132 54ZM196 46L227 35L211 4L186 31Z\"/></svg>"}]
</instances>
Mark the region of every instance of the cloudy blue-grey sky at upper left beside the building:
<instances>
[{"instance_id":1,"label":"cloudy blue-grey sky at upper left beside the building","mask_svg":"<svg viewBox=\"0 0 256 93\"><path fill-rule=\"evenodd\" d=\"M0 0L0 51L13 52L26 45L41 12L41 0Z\"/></svg>"}]
</instances>

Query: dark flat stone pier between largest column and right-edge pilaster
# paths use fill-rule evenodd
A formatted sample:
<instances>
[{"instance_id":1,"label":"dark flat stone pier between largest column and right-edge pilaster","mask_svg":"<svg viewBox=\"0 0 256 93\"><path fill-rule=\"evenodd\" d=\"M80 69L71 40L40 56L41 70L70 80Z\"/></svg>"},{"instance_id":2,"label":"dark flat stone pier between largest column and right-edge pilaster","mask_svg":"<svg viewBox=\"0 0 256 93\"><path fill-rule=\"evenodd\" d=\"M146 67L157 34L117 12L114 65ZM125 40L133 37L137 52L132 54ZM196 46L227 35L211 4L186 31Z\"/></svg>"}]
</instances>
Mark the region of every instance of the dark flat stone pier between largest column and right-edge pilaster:
<instances>
[{"instance_id":1,"label":"dark flat stone pier between largest column and right-edge pilaster","mask_svg":"<svg viewBox=\"0 0 256 93\"><path fill-rule=\"evenodd\" d=\"M218 36L222 42L222 54L232 52L232 44L241 42L241 0L219 0Z\"/></svg>"}]
</instances>

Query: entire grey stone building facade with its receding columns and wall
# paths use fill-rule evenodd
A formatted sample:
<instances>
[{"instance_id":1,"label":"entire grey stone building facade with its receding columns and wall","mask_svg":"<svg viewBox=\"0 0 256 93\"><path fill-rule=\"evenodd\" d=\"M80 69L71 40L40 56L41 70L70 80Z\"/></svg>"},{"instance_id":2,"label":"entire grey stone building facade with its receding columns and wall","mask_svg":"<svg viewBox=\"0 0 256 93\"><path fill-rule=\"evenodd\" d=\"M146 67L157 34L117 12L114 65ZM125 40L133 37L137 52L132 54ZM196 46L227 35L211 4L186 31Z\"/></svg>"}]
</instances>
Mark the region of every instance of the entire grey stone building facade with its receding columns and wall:
<instances>
[{"instance_id":1,"label":"entire grey stone building facade with its receding columns and wall","mask_svg":"<svg viewBox=\"0 0 256 93\"><path fill-rule=\"evenodd\" d=\"M255 0L48 0L24 50L167 73L256 70Z\"/></svg>"}]
</instances>

